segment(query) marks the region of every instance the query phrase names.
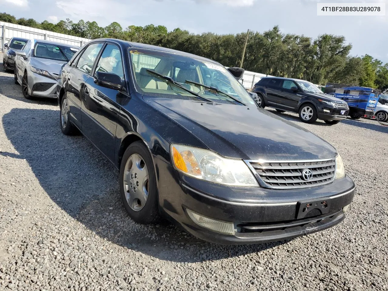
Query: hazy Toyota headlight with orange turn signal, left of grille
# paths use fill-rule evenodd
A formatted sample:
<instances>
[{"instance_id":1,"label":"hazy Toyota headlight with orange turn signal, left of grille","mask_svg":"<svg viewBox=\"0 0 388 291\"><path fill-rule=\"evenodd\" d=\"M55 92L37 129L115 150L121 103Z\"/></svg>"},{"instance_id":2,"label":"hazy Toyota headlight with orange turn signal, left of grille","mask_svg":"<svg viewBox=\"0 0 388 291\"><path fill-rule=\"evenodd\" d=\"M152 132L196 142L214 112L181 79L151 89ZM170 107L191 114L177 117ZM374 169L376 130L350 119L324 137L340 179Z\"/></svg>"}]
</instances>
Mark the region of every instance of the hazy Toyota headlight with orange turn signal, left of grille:
<instances>
[{"instance_id":1,"label":"hazy Toyota headlight with orange turn signal, left of grille","mask_svg":"<svg viewBox=\"0 0 388 291\"><path fill-rule=\"evenodd\" d=\"M171 144L170 153L175 168L191 177L224 185L258 187L242 160L227 159L206 149L177 144Z\"/></svg>"}]
</instances>

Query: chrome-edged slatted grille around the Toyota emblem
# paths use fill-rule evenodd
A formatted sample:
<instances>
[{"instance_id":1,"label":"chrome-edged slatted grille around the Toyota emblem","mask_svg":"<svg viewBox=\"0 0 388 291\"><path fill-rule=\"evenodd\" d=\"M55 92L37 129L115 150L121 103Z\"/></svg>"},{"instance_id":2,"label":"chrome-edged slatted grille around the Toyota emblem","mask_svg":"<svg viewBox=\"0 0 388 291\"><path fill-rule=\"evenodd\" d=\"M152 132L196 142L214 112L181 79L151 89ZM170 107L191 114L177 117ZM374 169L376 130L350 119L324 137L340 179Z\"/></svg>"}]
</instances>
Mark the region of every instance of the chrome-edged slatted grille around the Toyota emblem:
<instances>
[{"instance_id":1,"label":"chrome-edged slatted grille around the Toyota emblem","mask_svg":"<svg viewBox=\"0 0 388 291\"><path fill-rule=\"evenodd\" d=\"M333 182L336 171L335 159L320 161L248 161L258 174L263 187L274 189L307 188ZM303 170L312 171L310 180L303 178Z\"/></svg>"}]
</instances>

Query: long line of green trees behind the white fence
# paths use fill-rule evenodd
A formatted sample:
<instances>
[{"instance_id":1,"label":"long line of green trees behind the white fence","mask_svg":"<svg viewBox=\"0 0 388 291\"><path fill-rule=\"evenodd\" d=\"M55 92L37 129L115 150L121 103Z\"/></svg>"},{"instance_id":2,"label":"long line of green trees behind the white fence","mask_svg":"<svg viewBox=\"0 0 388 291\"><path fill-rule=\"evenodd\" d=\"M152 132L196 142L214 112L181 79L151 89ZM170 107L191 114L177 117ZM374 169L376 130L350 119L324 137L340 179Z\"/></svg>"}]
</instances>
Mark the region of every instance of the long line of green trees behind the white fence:
<instances>
[{"instance_id":1,"label":"long line of green trees behind the white fence","mask_svg":"<svg viewBox=\"0 0 388 291\"><path fill-rule=\"evenodd\" d=\"M0 13L0 21L40 28L84 38L118 38L181 50L220 62L224 66L240 66L241 52L247 33L218 35L194 34L175 28L153 24L130 25L123 29L117 22L101 27L95 21L70 19L58 23L19 18ZM278 26L265 31L249 32L244 69L273 76L300 78L315 84L326 82L388 88L388 63L371 55L352 56L352 44L344 36L324 34L312 39L303 35L284 34Z\"/></svg>"}]
</instances>

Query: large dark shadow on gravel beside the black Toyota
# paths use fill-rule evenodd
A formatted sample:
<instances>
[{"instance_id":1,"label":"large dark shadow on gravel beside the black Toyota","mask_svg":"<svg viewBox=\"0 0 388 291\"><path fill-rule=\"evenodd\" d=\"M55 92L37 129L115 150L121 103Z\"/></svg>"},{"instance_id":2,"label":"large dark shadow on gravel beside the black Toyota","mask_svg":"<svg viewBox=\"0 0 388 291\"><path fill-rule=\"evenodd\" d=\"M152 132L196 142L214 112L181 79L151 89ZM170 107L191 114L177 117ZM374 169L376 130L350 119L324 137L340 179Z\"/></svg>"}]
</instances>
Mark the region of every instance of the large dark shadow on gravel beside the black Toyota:
<instances>
[{"instance_id":1,"label":"large dark shadow on gravel beside the black Toyota","mask_svg":"<svg viewBox=\"0 0 388 291\"><path fill-rule=\"evenodd\" d=\"M3 116L2 124L19 154L0 155L25 159L54 203L95 235L118 246L182 263L258 253L284 243L221 246L201 241L165 221L139 225L122 206L117 171L86 138L62 134L58 110L12 109ZM30 179L31 173L19 175Z\"/></svg>"}]
</instances>

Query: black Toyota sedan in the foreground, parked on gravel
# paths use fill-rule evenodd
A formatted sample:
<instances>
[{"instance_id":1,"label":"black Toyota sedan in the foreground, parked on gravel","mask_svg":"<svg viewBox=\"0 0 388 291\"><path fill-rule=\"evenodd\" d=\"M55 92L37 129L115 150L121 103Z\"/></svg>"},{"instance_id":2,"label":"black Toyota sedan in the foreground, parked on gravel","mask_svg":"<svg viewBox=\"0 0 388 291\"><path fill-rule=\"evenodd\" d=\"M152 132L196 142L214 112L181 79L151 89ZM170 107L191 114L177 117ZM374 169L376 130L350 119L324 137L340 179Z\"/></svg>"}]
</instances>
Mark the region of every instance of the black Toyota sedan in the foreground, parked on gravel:
<instances>
[{"instance_id":1,"label":"black Toyota sedan in the foreground, parked on gravel","mask_svg":"<svg viewBox=\"0 0 388 291\"><path fill-rule=\"evenodd\" d=\"M94 40L62 67L57 98L62 132L80 131L118 169L138 223L161 215L207 241L250 244L327 229L352 202L336 149L258 108L215 61Z\"/></svg>"}]
</instances>

